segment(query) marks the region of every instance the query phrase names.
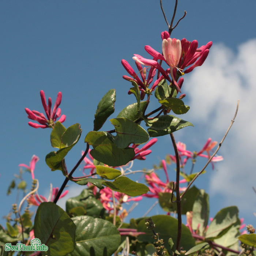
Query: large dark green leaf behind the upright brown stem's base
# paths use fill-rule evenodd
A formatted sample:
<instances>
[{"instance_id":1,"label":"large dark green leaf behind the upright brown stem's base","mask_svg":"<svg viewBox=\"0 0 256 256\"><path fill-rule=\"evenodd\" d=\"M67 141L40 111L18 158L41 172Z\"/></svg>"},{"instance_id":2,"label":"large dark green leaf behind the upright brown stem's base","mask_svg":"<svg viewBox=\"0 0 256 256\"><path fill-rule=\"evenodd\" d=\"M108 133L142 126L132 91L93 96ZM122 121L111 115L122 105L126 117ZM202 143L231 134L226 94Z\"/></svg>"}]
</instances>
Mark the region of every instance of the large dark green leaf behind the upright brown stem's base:
<instances>
[{"instance_id":1,"label":"large dark green leaf behind the upright brown stem's base","mask_svg":"<svg viewBox=\"0 0 256 256\"><path fill-rule=\"evenodd\" d=\"M168 215L156 215L151 217L152 221L155 224L154 231L160 234L160 238L164 241L164 246L169 253L172 253L170 245L168 244L168 240L171 237L174 244L177 242L177 228L178 221L176 218L173 218ZM139 235L138 240L142 242L154 242L152 238L153 232L152 230L148 230L145 225L145 218L143 218L138 223L138 231L145 232L146 234ZM191 232L188 227L182 224L182 233L181 233L181 243L180 246L184 248L184 250L188 251L190 248L195 246L195 240L192 237Z\"/></svg>"}]
</instances>

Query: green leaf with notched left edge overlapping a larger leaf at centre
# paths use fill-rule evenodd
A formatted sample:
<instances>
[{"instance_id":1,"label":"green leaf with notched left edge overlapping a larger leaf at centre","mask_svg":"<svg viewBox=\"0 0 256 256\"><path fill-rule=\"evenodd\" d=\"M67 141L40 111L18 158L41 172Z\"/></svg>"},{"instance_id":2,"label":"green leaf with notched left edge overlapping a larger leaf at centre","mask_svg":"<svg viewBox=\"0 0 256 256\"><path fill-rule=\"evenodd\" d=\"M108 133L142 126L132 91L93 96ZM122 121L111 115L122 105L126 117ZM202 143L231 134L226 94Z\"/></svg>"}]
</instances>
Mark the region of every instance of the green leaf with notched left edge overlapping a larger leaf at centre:
<instances>
[{"instance_id":1,"label":"green leaf with notched left edge overlapping a larger leaf at centre","mask_svg":"<svg viewBox=\"0 0 256 256\"><path fill-rule=\"evenodd\" d=\"M126 148L129 144L142 144L148 141L148 133L138 124L127 118L113 118L117 135L113 137L114 144L119 148Z\"/></svg>"}]
</instances>

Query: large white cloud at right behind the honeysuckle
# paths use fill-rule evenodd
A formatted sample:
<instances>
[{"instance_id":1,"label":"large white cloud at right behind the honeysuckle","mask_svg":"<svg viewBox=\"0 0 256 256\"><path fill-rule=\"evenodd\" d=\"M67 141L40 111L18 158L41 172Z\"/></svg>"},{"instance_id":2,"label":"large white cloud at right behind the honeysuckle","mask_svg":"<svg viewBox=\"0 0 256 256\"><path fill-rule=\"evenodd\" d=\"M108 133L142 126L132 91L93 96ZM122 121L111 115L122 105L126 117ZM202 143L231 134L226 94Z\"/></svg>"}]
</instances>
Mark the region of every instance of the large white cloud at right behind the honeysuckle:
<instances>
[{"instance_id":1,"label":"large white cloud at right behind the honeysuckle","mask_svg":"<svg viewBox=\"0 0 256 256\"><path fill-rule=\"evenodd\" d=\"M210 181L210 193L222 206L236 204L244 214L256 211L256 39L241 44L237 53L219 44L212 46L202 67L185 78L191 121L205 138L222 138L236 110L236 121L221 148L224 162ZM183 89L184 89L183 88ZM184 89L185 90L185 89ZM254 207L254 208L253 208Z\"/></svg>"}]
</instances>

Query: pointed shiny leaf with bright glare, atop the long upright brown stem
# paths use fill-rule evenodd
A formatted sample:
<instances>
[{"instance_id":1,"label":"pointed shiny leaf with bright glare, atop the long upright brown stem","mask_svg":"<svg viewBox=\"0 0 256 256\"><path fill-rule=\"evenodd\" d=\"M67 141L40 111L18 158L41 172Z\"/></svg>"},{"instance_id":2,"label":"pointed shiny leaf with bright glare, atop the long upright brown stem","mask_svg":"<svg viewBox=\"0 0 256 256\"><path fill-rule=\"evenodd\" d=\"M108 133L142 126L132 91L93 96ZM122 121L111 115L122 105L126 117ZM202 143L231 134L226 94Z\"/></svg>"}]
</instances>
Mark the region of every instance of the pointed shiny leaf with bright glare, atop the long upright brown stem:
<instances>
[{"instance_id":1,"label":"pointed shiny leaf with bright glare, atop the long upright brown stem","mask_svg":"<svg viewBox=\"0 0 256 256\"><path fill-rule=\"evenodd\" d=\"M193 126L188 121L182 120L181 118L164 115L154 118L153 120L147 121L147 125L151 126L148 128L148 134L150 137L163 136L187 126Z\"/></svg>"}]
</instances>

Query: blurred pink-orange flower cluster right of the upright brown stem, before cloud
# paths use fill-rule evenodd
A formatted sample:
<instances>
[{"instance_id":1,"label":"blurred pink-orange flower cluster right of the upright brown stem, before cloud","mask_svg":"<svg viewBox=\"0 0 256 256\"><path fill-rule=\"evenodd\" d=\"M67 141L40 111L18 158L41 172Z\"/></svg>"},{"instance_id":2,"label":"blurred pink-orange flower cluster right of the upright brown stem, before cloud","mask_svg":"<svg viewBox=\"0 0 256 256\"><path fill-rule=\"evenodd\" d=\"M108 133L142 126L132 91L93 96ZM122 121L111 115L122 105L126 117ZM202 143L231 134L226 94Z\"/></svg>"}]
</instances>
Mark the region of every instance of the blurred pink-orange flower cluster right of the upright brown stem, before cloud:
<instances>
[{"instance_id":1,"label":"blurred pink-orange flower cluster right of the upright brown stem, before cloud","mask_svg":"<svg viewBox=\"0 0 256 256\"><path fill-rule=\"evenodd\" d=\"M195 159L196 157L205 157L205 158L210 158L210 152L211 150L217 145L216 141L211 141L211 138L207 140L207 142L204 144L203 148L199 152L191 152L186 149L186 144L178 142L177 143L177 149L180 157L180 163L181 166L184 167L185 164L187 163L188 159ZM204 151L206 152L207 155L203 154ZM170 158L172 159L173 162L176 163L176 157L175 155L170 155ZM213 162L219 162L222 161L223 157L218 155L214 156L211 160L212 162L212 169L214 169Z\"/></svg>"}]
</instances>

